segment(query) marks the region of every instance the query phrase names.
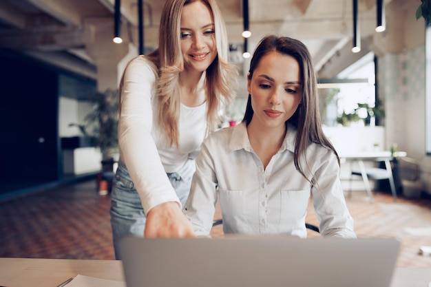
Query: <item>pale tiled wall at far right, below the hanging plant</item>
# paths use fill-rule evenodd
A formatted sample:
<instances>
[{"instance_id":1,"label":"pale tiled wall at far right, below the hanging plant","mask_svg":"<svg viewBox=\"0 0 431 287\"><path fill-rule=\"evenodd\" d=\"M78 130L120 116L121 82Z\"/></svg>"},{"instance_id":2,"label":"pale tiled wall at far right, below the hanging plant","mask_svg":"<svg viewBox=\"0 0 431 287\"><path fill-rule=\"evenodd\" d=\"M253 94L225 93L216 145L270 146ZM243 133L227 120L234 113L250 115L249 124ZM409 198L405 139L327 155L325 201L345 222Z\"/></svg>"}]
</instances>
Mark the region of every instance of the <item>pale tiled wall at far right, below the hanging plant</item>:
<instances>
[{"instance_id":1,"label":"pale tiled wall at far right, below the hanging plant","mask_svg":"<svg viewBox=\"0 0 431 287\"><path fill-rule=\"evenodd\" d=\"M431 194L431 157L425 153L425 45L379 58L379 94L384 103L386 145L421 164L425 191ZM430 112L430 111L428 111Z\"/></svg>"}]
</instances>

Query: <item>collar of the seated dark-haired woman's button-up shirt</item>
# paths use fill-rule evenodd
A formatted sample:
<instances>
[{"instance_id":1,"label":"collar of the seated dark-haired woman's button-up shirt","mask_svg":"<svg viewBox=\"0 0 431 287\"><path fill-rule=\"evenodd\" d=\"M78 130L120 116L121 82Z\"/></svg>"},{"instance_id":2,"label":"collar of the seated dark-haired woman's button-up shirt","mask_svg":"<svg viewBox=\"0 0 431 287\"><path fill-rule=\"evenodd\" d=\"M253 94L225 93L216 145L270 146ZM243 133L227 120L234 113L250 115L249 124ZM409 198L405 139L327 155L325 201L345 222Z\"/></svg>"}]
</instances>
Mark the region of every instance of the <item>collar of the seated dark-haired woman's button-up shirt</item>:
<instances>
[{"instance_id":1,"label":"collar of the seated dark-haired woman's button-up shirt","mask_svg":"<svg viewBox=\"0 0 431 287\"><path fill-rule=\"evenodd\" d=\"M293 152L295 149L295 136L296 127L288 123L286 136L284 136L284 141L282 147L280 147L280 151L287 149L288 151ZM244 121L233 127L231 140L229 141L229 149L231 149L231 151L236 151L238 149L251 151L249 134L247 134L247 127Z\"/></svg>"}]
</instances>

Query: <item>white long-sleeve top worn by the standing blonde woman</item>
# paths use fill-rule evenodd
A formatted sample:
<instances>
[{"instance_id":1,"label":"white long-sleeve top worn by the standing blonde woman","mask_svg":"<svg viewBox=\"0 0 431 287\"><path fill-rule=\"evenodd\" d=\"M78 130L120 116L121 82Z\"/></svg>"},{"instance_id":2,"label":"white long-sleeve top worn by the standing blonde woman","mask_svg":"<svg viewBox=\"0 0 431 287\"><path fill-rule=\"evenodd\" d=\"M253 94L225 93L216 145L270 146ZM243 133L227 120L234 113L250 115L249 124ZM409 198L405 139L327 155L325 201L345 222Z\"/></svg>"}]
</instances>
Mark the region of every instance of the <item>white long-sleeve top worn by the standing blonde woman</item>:
<instances>
[{"instance_id":1,"label":"white long-sleeve top worn by the standing blonde woman","mask_svg":"<svg viewBox=\"0 0 431 287\"><path fill-rule=\"evenodd\" d=\"M129 63L118 125L120 161L132 177L145 213L163 202L180 203L166 173L178 171L187 159L196 158L207 131L207 104L198 107L181 104L179 147L169 146L157 120L157 78L156 65L145 56Z\"/></svg>"}]
</instances>

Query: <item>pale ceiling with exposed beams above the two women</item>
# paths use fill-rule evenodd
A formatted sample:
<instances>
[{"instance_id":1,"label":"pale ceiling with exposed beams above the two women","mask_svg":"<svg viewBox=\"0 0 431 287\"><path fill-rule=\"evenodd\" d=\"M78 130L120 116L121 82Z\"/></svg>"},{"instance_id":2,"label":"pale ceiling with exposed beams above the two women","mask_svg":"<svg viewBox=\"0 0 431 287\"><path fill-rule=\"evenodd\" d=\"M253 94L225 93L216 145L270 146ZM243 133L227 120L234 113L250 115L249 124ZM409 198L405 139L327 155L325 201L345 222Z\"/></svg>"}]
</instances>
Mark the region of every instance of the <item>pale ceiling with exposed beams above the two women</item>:
<instances>
[{"instance_id":1,"label":"pale ceiling with exposed beams above the two women","mask_svg":"<svg viewBox=\"0 0 431 287\"><path fill-rule=\"evenodd\" d=\"M227 23L229 42L242 45L242 0L217 2ZM375 33L375 2L359 0L363 38ZM146 47L157 45L158 24L164 3L162 0L144 1ZM112 26L113 7L114 0L2 0L0 48L19 50L90 76L95 74L95 67L85 52L85 31L88 25ZM137 46L137 1L122 0L121 8L123 34ZM291 36L307 45L316 70L342 47L351 46L352 0L249 0L249 19L252 32L249 52L265 34Z\"/></svg>"}]
</instances>

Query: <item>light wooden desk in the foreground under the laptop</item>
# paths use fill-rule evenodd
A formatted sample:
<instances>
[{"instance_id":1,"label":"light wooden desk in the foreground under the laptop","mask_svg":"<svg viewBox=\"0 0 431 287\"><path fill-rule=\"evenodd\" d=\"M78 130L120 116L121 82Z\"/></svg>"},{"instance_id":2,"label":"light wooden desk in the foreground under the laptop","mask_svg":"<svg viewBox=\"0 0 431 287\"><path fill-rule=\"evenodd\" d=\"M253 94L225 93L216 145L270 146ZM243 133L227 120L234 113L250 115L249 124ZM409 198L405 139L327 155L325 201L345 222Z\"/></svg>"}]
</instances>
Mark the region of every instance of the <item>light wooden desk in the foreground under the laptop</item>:
<instances>
[{"instance_id":1,"label":"light wooden desk in the foreground under the laptop","mask_svg":"<svg viewBox=\"0 0 431 287\"><path fill-rule=\"evenodd\" d=\"M116 260L0 258L0 286L55 287L78 274L125 281ZM395 268L390 287L428 287L430 268Z\"/></svg>"}]
</instances>

